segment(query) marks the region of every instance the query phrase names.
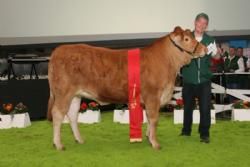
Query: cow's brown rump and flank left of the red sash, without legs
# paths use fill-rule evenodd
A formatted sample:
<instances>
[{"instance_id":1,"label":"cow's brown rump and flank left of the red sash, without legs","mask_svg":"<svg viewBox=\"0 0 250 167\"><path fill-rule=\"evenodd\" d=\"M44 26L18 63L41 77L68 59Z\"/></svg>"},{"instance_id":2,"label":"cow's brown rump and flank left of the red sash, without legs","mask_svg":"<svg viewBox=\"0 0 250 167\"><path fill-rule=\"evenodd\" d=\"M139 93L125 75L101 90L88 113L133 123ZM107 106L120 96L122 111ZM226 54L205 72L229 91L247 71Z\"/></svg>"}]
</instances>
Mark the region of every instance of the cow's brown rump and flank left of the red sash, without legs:
<instances>
[{"instance_id":1,"label":"cow's brown rump and flank left of the red sash, without legs","mask_svg":"<svg viewBox=\"0 0 250 167\"><path fill-rule=\"evenodd\" d=\"M62 45L49 63L53 93L83 95L98 101L127 101L127 51L84 44ZM93 96L93 97L92 97Z\"/></svg>"}]
</instances>

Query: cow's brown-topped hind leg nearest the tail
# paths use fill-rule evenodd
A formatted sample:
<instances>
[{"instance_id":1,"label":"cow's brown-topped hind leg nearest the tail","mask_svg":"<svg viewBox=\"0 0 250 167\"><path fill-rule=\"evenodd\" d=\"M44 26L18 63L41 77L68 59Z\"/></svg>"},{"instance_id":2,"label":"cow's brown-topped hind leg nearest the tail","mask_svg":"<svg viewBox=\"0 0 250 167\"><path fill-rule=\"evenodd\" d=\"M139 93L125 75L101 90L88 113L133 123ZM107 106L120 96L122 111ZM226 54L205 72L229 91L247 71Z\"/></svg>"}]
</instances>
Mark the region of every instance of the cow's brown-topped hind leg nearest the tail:
<instances>
[{"instance_id":1,"label":"cow's brown-topped hind leg nearest the tail","mask_svg":"<svg viewBox=\"0 0 250 167\"><path fill-rule=\"evenodd\" d=\"M64 96L63 98L55 98L55 103L52 108L53 116L53 142L57 150L64 150L61 142L61 125L63 119L69 109L70 98Z\"/></svg>"}]
</instances>

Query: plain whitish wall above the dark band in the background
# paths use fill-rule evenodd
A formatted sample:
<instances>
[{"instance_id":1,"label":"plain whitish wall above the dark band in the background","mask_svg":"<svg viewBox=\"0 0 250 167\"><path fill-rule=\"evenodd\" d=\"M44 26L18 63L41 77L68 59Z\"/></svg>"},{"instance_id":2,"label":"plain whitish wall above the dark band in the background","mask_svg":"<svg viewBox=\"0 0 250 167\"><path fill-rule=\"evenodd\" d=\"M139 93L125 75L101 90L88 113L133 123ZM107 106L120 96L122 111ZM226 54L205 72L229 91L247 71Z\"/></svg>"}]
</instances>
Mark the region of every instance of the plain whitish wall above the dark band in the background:
<instances>
[{"instance_id":1,"label":"plain whitish wall above the dark band in the background","mask_svg":"<svg viewBox=\"0 0 250 167\"><path fill-rule=\"evenodd\" d=\"M169 32L193 27L249 30L249 0L0 0L0 38Z\"/></svg>"}]
</instances>

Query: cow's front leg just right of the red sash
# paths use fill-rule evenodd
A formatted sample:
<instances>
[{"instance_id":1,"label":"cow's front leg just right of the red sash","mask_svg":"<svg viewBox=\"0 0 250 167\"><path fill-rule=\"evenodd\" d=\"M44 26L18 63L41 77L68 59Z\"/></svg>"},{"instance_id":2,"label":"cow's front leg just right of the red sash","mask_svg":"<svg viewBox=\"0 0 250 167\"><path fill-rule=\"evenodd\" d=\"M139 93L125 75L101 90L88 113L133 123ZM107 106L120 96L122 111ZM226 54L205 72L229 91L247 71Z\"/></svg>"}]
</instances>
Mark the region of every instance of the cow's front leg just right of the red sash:
<instances>
[{"instance_id":1,"label":"cow's front leg just right of the red sash","mask_svg":"<svg viewBox=\"0 0 250 167\"><path fill-rule=\"evenodd\" d=\"M146 103L146 112L148 115L149 127L148 127L148 139L154 149L160 149L160 144L156 138L156 128L159 118L160 100L149 100Z\"/></svg>"}]
</instances>

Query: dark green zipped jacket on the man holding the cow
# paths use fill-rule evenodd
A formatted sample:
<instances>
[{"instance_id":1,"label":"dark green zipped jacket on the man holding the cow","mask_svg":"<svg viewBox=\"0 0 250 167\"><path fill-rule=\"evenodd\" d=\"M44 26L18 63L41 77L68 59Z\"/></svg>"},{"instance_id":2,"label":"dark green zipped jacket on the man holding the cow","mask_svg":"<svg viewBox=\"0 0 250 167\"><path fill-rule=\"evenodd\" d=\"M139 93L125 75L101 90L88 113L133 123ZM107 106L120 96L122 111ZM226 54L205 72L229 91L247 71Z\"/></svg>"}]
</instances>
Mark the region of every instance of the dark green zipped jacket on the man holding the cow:
<instances>
[{"instance_id":1,"label":"dark green zipped jacket on the man holding the cow","mask_svg":"<svg viewBox=\"0 0 250 167\"><path fill-rule=\"evenodd\" d=\"M208 46L215 40L213 37L203 34L201 43ZM183 82L189 84L200 84L210 81L212 78L211 66L211 54L206 54L204 57L192 59L191 63L184 66L181 70Z\"/></svg>"}]
</instances>

